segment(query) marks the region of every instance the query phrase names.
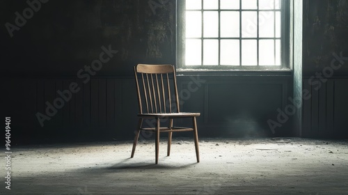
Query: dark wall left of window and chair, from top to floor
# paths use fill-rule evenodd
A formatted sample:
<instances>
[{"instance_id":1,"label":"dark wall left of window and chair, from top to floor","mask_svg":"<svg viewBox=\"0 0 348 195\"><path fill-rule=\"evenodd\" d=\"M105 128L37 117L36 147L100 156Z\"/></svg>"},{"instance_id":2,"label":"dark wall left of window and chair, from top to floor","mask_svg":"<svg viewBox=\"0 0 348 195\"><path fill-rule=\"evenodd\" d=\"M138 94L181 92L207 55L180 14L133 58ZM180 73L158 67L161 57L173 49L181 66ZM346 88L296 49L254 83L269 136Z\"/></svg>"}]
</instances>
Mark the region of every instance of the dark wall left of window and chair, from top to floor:
<instances>
[{"instance_id":1,"label":"dark wall left of window and chair, from top to floor","mask_svg":"<svg viewBox=\"0 0 348 195\"><path fill-rule=\"evenodd\" d=\"M6 91L1 118L12 117L13 141L132 137L137 111L132 67L175 64L175 1L35 2L34 8L26 1L0 6L0 86ZM111 48L112 57L104 55L110 60L92 75L85 65L100 59L102 47ZM61 98L57 92L75 82L79 92L41 126L36 114L47 116L47 102L53 104Z\"/></svg>"}]
</instances>

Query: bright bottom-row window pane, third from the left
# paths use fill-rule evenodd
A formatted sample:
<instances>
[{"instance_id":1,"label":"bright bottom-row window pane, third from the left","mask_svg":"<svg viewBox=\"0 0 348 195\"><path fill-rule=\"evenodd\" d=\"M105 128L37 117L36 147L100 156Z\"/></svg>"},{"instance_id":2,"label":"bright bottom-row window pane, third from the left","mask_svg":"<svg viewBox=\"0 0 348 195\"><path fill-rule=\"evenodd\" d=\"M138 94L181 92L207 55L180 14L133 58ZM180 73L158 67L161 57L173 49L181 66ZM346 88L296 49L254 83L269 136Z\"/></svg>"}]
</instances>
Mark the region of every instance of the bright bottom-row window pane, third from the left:
<instances>
[{"instance_id":1,"label":"bright bottom-row window pane, third from the left","mask_svg":"<svg viewBox=\"0 0 348 195\"><path fill-rule=\"evenodd\" d=\"M220 64L239 65L239 40L221 40Z\"/></svg>"}]
</instances>

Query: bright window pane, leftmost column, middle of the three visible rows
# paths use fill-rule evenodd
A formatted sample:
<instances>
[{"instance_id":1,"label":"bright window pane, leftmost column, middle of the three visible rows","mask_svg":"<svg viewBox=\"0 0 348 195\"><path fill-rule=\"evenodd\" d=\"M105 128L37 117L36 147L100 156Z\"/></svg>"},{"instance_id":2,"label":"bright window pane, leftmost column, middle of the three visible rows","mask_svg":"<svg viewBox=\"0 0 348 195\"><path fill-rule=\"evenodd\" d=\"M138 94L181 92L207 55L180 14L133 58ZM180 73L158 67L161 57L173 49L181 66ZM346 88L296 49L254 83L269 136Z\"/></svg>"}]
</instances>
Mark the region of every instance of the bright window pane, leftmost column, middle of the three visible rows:
<instances>
[{"instance_id":1,"label":"bright window pane, leftmost column, middle of the three visible rows","mask_svg":"<svg viewBox=\"0 0 348 195\"><path fill-rule=\"evenodd\" d=\"M202 36L202 13L200 11L186 12L186 37L200 38Z\"/></svg>"}]
</instances>

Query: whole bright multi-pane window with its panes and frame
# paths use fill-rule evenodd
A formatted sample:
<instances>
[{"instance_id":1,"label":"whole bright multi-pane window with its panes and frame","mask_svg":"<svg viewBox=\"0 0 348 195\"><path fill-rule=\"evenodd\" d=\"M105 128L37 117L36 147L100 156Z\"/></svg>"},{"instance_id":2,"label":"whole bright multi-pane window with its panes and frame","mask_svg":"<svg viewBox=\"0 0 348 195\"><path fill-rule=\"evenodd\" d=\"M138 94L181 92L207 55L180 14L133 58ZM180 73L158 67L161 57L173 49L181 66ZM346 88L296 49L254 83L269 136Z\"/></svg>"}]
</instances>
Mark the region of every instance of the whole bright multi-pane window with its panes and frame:
<instances>
[{"instance_id":1,"label":"whole bright multi-pane window with its panes and frame","mask_svg":"<svg viewBox=\"0 0 348 195\"><path fill-rule=\"evenodd\" d=\"M289 1L177 2L178 68L289 68Z\"/></svg>"}]
</instances>

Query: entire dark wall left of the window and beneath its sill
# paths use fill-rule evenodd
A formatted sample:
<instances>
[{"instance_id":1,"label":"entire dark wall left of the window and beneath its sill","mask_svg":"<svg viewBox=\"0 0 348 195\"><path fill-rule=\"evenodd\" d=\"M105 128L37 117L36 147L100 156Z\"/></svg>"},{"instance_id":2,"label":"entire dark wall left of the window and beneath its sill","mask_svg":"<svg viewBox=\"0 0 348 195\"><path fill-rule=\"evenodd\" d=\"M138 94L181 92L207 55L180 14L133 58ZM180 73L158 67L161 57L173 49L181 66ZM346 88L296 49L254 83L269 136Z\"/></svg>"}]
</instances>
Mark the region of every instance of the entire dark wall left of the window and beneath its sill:
<instances>
[{"instance_id":1,"label":"entire dark wall left of the window and beneath its sill","mask_svg":"<svg viewBox=\"0 0 348 195\"><path fill-rule=\"evenodd\" d=\"M3 25L1 118L11 116L13 141L132 139L138 111L132 67L175 64L174 2L51 0L42 3L19 31L13 31L12 38ZM26 1L4 1L1 24L15 24L15 12L22 15L27 7ZM91 79L81 79L77 72L93 65L100 59L101 47L109 45L118 52ZM267 123L277 121L279 111L290 104L292 75L248 74L201 77L205 82L184 97L182 110L202 114L198 118L201 137L292 135L292 116L274 132ZM187 84L195 79L179 76L179 91L189 90ZM68 90L72 83L79 91L41 126L38 113L47 116L48 104L61 98L58 91Z\"/></svg>"}]
</instances>

